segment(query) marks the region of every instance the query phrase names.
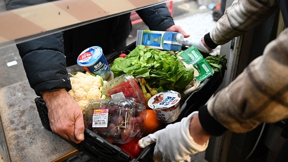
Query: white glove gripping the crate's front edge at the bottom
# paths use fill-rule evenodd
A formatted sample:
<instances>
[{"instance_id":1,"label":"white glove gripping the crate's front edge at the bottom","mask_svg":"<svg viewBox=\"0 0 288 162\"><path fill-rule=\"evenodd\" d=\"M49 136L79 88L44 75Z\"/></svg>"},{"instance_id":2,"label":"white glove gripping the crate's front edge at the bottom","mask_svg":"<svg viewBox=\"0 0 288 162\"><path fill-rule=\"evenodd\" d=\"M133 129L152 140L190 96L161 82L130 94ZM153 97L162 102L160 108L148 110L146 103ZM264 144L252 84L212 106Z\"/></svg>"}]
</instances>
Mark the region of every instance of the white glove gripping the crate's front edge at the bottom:
<instances>
[{"instance_id":1,"label":"white glove gripping the crate's front edge at the bottom","mask_svg":"<svg viewBox=\"0 0 288 162\"><path fill-rule=\"evenodd\" d=\"M154 161L184 161L190 154L205 150L208 142L199 145L189 133L190 120L197 113L198 111L194 111L180 122L168 124L164 129L141 138L138 141L139 146L143 148L156 142Z\"/></svg>"}]
</instances>

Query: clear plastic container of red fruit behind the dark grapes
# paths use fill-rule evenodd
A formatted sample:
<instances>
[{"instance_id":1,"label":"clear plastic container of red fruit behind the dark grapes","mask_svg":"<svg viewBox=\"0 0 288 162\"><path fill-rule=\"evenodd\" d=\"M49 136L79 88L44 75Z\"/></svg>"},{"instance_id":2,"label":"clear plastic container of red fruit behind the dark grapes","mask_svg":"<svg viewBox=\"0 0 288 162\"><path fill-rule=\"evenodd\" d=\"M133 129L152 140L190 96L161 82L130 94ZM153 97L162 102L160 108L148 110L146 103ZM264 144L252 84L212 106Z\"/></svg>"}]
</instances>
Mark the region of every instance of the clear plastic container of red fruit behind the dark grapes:
<instances>
[{"instance_id":1,"label":"clear plastic container of red fruit behind the dark grapes","mask_svg":"<svg viewBox=\"0 0 288 162\"><path fill-rule=\"evenodd\" d=\"M103 85L103 93L109 98L133 97L138 103L145 104L143 93L135 78L123 74L107 81Z\"/></svg>"}]
</instances>

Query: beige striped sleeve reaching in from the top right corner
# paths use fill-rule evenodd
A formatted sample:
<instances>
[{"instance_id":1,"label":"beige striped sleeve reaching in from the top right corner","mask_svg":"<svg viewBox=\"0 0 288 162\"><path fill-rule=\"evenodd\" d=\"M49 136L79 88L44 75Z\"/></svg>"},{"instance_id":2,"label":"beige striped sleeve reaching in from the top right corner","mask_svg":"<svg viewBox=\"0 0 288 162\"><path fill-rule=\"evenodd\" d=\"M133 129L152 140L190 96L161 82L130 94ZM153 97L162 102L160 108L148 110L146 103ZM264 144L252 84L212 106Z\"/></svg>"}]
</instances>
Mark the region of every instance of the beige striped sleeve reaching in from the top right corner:
<instances>
[{"instance_id":1,"label":"beige striped sleeve reaching in from the top right corner","mask_svg":"<svg viewBox=\"0 0 288 162\"><path fill-rule=\"evenodd\" d=\"M278 8L277 0L234 0L210 31L216 44L224 44L266 20Z\"/></svg>"}]
</instances>

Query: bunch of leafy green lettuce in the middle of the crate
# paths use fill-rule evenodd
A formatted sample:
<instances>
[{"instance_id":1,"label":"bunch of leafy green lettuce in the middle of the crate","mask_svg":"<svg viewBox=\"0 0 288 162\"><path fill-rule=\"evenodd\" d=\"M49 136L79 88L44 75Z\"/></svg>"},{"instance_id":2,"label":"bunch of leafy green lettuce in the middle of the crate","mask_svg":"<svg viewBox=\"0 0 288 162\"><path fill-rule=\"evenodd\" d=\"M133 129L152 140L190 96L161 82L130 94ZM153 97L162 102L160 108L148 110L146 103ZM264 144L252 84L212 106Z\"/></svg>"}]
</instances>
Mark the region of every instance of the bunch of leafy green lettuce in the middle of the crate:
<instances>
[{"instance_id":1,"label":"bunch of leafy green lettuce in the middle of the crate","mask_svg":"<svg viewBox=\"0 0 288 162\"><path fill-rule=\"evenodd\" d=\"M142 76L153 87L162 90L183 89L193 79L193 69L185 68L176 55L155 48L137 45L126 57L110 63L114 77L124 73ZM161 91L162 91L161 90Z\"/></svg>"}]
</instances>

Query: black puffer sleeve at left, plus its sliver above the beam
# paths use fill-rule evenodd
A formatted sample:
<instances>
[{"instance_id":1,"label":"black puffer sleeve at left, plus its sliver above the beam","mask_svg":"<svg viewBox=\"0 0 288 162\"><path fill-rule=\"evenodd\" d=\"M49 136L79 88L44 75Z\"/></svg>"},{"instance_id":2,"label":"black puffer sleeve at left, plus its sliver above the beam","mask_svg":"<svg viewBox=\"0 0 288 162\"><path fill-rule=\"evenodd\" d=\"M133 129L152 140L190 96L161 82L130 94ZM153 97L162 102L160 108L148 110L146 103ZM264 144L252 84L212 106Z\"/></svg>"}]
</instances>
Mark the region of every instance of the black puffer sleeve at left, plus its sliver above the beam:
<instances>
[{"instance_id":1,"label":"black puffer sleeve at left, plus its sliver above the beam","mask_svg":"<svg viewBox=\"0 0 288 162\"><path fill-rule=\"evenodd\" d=\"M29 6L46 0L9 0L7 9ZM37 95L43 91L71 89L66 70L62 32L16 44L30 86Z\"/></svg>"}]
</instances>

